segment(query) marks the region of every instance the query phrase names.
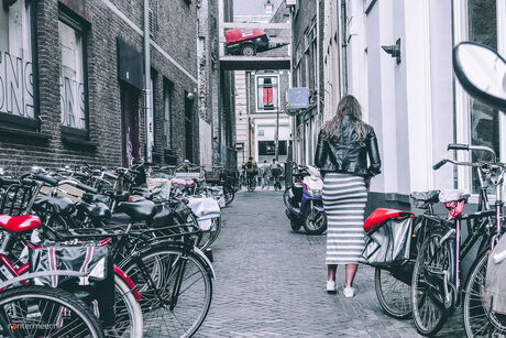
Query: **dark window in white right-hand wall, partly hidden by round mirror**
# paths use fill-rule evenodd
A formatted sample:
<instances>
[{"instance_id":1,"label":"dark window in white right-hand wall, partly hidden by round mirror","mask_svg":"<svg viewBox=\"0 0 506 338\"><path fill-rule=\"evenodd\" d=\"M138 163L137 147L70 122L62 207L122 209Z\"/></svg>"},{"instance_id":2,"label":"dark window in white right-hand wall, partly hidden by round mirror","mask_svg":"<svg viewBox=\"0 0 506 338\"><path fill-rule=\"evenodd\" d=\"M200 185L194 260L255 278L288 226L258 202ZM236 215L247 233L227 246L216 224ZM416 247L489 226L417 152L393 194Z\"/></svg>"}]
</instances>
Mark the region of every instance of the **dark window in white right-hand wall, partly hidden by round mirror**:
<instances>
[{"instance_id":1,"label":"dark window in white right-hand wall, partly hidden by round mirror","mask_svg":"<svg viewBox=\"0 0 506 338\"><path fill-rule=\"evenodd\" d=\"M468 1L469 40L497 50L496 0ZM492 148L499 155L499 115L497 110L470 99L470 141L472 144ZM484 152L472 152L473 161L487 160ZM479 192L480 182L473 171L473 190Z\"/></svg>"}]
</instances>

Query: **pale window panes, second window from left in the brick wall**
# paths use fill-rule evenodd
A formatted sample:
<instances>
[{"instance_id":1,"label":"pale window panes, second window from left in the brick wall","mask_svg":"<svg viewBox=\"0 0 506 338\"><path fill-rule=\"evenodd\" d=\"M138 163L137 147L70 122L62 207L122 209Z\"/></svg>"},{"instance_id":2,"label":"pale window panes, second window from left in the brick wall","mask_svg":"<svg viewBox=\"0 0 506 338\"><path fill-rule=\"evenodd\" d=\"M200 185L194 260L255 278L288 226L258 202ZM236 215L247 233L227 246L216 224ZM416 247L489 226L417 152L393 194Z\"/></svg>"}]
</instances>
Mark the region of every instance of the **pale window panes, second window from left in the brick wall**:
<instances>
[{"instance_id":1,"label":"pale window panes, second window from left in the brick wall","mask_svg":"<svg viewBox=\"0 0 506 338\"><path fill-rule=\"evenodd\" d=\"M88 107L82 30L76 21L62 14L58 21L58 36L62 56L59 67L62 124L86 130Z\"/></svg>"}]
</instances>

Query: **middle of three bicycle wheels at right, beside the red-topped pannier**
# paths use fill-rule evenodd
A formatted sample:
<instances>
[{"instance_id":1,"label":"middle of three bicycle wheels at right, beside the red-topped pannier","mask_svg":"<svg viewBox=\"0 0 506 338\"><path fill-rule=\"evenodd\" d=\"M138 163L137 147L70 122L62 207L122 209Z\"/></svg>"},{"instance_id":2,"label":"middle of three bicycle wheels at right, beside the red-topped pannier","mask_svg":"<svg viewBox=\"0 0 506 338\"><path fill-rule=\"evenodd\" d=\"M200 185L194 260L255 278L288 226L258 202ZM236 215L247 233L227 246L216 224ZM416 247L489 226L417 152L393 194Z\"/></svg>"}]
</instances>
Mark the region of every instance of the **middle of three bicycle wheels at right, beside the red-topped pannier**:
<instances>
[{"instance_id":1,"label":"middle of three bicycle wheels at right, beside the red-topped pannier","mask_svg":"<svg viewBox=\"0 0 506 338\"><path fill-rule=\"evenodd\" d=\"M420 283L421 280L419 281L419 277L420 277L420 274L424 274L428 270L426 266L427 265L426 261L427 260L430 261L433 259L433 255L435 255L433 252L437 252L437 253L442 252L442 251L439 251L440 248L438 247L439 247L440 239L444 235L446 235L444 231L436 230L427 237L427 240L422 244L421 250L418 254L418 258L415 263L415 269L413 271L410 305L413 309L413 318L415 321L415 327L417 331L422 336L436 335L442 328L442 326L448 319L449 314L452 312L451 308L446 309L446 308L442 308L441 305L439 305L438 307L438 304L433 304L433 307L432 307L435 308L433 316L429 316L429 319L435 317L435 323L430 326L424 323L424 318L427 318L427 316L424 316L421 314L421 309L424 308L424 305L426 305L426 303L430 305L430 303L433 303L433 301L430 298L430 295L425 290L421 288L421 283ZM453 268L455 264L454 249L453 249L452 243L454 243L454 241L451 239L446 240L443 242L442 250L444 250L444 253L441 258L439 258L443 260L442 262L443 269L446 269L446 271L449 273L451 281L453 281L453 275L454 275ZM430 251L427 252L428 250ZM431 268L432 270L438 269L437 266L429 266L429 268ZM420 293L422 296L421 299L419 299ZM454 297L454 294L451 293L451 296ZM430 301L430 302L427 302L427 301ZM442 302L441 299L438 299L438 301ZM454 303L454 298L450 301Z\"/></svg>"}]
</instances>

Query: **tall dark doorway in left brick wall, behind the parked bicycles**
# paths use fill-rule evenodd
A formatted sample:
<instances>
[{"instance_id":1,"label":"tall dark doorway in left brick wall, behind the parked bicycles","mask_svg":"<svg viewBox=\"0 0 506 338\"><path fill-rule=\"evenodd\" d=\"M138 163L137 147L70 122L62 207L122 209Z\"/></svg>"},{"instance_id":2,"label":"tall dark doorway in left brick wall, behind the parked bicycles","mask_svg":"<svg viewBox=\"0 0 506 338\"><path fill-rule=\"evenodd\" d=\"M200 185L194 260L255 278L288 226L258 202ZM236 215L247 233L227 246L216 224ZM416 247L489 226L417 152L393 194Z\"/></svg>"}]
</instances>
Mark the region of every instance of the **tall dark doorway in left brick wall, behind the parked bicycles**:
<instances>
[{"instance_id":1,"label":"tall dark doorway in left brick wall, behind the parked bicycles","mask_svg":"<svg viewBox=\"0 0 506 338\"><path fill-rule=\"evenodd\" d=\"M129 166L132 160L139 161L139 99L140 90L121 84L121 140L123 166Z\"/></svg>"}]
</instances>

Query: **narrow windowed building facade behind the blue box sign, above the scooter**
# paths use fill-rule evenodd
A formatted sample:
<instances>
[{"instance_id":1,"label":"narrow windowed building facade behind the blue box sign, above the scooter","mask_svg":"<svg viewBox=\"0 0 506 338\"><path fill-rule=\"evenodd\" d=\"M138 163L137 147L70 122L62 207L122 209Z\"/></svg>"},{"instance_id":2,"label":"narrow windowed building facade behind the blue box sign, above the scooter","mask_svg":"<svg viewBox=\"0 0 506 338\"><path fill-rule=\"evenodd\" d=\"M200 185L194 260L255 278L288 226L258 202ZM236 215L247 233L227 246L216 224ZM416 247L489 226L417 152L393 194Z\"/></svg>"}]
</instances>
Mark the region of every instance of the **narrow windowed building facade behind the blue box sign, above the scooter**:
<instances>
[{"instance_id":1,"label":"narrow windowed building facade behind the blue box sign, above the scooter","mask_svg":"<svg viewBox=\"0 0 506 338\"><path fill-rule=\"evenodd\" d=\"M309 88L309 107L294 112L293 159L308 165L314 164L318 131L323 121L323 17L328 11L323 0L290 2L292 87Z\"/></svg>"}]
</instances>

